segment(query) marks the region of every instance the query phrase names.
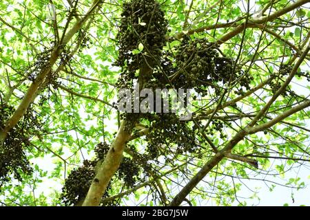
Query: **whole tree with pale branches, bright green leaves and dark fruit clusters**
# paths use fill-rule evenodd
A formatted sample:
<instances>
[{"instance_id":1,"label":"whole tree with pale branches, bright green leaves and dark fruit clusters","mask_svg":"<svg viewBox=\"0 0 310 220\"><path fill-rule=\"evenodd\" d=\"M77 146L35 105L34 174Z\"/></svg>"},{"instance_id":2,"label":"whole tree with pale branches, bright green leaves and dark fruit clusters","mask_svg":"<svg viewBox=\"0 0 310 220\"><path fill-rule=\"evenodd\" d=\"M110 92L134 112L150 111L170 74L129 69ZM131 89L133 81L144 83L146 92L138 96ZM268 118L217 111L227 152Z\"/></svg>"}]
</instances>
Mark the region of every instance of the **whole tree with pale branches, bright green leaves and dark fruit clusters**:
<instances>
[{"instance_id":1,"label":"whole tree with pale branches, bright green leaves and dark fruit clusters","mask_svg":"<svg viewBox=\"0 0 310 220\"><path fill-rule=\"evenodd\" d=\"M309 2L1 2L1 203L244 206L246 179L304 188L285 174L310 161ZM124 113L122 89L192 89L191 117Z\"/></svg>"}]
</instances>

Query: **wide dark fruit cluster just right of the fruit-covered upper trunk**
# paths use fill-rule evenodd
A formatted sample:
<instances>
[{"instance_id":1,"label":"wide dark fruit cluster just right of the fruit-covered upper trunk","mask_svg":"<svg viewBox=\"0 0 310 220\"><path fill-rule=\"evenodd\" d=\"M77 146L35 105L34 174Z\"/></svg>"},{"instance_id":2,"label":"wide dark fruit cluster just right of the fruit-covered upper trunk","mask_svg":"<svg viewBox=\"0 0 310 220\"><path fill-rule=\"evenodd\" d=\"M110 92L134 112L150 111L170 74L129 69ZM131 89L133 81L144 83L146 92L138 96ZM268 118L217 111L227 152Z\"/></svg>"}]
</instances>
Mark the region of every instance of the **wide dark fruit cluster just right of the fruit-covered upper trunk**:
<instances>
[{"instance_id":1,"label":"wide dark fruit cluster just right of the fruit-covered upper trunk","mask_svg":"<svg viewBox=\"0 0 310 220\"><path fill-rule=\"evenodd\" d=\"M254 78L242 72L232 58L220 56L220 50L214 43L206 39L184 38L176 52L177 71L169 76L176 88L194 88L199 94L206 96L207 87L217 89L218 85L227 85L238 80L240 87L250 89L250 81Z\"/></svg>"}]
</instances>

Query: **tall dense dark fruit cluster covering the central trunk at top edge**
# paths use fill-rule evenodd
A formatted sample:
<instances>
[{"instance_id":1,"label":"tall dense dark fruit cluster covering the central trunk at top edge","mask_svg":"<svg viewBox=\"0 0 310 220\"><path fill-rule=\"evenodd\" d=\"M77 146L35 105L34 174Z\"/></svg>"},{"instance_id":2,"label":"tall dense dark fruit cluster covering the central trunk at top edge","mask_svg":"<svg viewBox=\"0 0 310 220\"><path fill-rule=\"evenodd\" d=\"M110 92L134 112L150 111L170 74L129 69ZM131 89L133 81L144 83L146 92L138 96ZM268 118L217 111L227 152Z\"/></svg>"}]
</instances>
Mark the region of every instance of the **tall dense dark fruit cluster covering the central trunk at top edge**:
<instances>
[{"instance_id":1,"label":"tall dense dark fruit cluster covering the central trunk at top edge","mask_svg":"<svg viewBox=\"0 0 310 220\"><path fill-rule=\"evenodd\" d=\"M131 87L132 80L138 78L136 72L143 65L154 68L156 63L152 62L161 60L167 21L159 3L154 0L124 3L121 16L117 35L119 54L115 65L123 67L118 86Z\"/></svg>"}]
</instances>

